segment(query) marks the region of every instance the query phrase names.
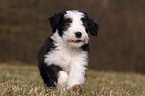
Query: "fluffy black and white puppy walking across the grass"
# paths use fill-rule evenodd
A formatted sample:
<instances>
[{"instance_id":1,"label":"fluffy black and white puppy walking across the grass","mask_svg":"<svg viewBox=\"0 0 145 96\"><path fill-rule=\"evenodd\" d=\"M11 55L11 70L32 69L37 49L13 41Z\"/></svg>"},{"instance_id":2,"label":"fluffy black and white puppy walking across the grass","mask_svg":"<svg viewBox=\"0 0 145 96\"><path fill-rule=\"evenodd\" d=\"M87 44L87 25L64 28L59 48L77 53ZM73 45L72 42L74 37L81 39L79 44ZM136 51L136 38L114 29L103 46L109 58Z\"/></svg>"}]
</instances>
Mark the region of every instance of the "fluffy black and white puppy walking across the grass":
<instances>
[{"instance_id":1,"label":"fluffy black and white puppy walking across the grass","mask_svg":"<svg viewBox=\"0 0 145 96\"><path fill-rule=\"evenodd\" d=\"M49 87L71 89L85 80L89 36L96 36L96 24L84 12L69 10L49 18L52 35L38 53L40 74Z\"/></svg>"}]
</instances>

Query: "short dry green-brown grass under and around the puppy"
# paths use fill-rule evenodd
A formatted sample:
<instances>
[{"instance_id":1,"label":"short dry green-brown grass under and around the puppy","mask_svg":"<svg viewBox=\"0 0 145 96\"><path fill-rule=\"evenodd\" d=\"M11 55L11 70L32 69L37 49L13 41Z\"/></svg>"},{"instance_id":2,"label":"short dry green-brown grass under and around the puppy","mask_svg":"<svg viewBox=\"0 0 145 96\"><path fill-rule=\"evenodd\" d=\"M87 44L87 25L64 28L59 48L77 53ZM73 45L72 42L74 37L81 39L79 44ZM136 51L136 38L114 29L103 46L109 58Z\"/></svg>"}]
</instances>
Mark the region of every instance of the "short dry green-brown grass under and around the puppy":
<instances>
[{"instance_id":1,"label":"short dry green-brown grass under and around the puppy","mask_svg":"<svg viewBox=\"0 0 145 96\"><path fill-rule=\"evenodd\" d=\"M0 65L0 96L145 96L145 75L87 71L82 93L44 84L36 66Z\"/></svg>"}]
</instances>

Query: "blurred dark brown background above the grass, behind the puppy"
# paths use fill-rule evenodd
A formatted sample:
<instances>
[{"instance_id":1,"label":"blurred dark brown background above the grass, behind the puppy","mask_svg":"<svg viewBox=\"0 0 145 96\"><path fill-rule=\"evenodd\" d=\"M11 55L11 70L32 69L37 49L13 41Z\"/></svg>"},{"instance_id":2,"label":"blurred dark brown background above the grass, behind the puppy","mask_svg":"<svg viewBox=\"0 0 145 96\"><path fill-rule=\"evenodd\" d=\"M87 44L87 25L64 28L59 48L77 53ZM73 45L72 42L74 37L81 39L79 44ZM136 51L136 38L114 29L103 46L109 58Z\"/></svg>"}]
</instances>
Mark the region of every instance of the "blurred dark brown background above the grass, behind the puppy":
<instances>
[{"instance_id":1,"label":"blurred dark brown background above the grass, behind the puppy","mask_svg":"<svg viewBox=\"0 0 145 96\"><path fill-rule=\"evenodd\" d=\"M100 25L89 68L145 73L145 0L0 0L0 63L37 65L48 17L75 9Z\"/></svg>"}]
</instances>

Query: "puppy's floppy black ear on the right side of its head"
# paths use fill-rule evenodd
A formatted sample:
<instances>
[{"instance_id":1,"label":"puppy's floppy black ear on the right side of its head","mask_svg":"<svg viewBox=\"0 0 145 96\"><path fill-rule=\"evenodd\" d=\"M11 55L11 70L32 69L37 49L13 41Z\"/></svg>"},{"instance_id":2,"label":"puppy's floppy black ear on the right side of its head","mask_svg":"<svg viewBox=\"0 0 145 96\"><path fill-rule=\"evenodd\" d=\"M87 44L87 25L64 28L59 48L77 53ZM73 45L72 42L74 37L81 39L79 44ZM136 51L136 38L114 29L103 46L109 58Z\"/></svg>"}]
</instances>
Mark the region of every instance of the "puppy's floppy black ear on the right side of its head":
<instances>
[{"instance_id":1,"label":"puppy's floppy black ear on the right side of its head","mask_svg":"<svg viewBox=\"0 0 145 96\"><path fill-rule=\"evenodd\" d=\"M98 33L98 30L99 30L99 25L97 23L95 23L93 21L92 18L90 18L87 13L84 13L85 14L85 18L86 18L86 21L87 21L87 29L88 31L90 32L90 34L92 36L97 36L97 33Z\"/></svg>"}]
</instances>

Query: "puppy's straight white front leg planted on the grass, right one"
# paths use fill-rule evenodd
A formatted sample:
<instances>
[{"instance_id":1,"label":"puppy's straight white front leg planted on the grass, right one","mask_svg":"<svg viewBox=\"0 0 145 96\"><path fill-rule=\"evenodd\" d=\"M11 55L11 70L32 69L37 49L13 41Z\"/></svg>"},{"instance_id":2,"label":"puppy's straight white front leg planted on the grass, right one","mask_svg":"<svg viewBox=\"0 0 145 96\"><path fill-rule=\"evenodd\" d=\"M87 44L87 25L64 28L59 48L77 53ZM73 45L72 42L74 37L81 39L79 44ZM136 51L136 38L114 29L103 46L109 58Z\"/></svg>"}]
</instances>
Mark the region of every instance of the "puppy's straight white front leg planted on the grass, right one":
<instances>
[{"instance_id":1,"label":"puppy's straight white front leg planted on the grass, right one","mask_svg":"<svg viewBox=\"0 0 145 96\"><path fill-rule=\"evenodd\" d=\"M85 70L86 67L80 65L73 65L69 70L69 78L68 78L68 87L67 89L71 89L73 87L80 86L85 81Z\"/></svg>"}]
</instances>

